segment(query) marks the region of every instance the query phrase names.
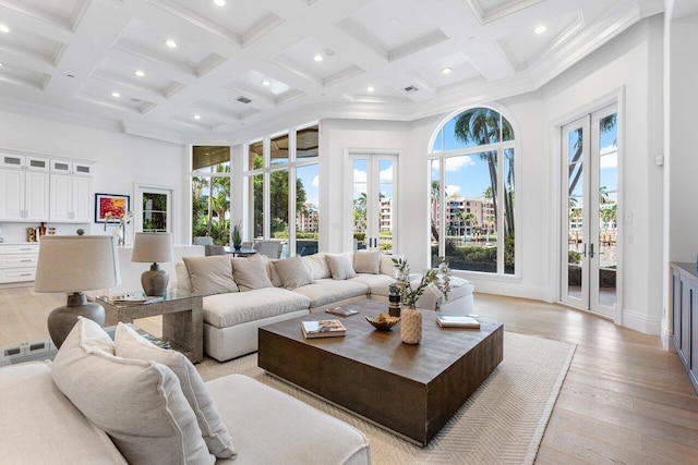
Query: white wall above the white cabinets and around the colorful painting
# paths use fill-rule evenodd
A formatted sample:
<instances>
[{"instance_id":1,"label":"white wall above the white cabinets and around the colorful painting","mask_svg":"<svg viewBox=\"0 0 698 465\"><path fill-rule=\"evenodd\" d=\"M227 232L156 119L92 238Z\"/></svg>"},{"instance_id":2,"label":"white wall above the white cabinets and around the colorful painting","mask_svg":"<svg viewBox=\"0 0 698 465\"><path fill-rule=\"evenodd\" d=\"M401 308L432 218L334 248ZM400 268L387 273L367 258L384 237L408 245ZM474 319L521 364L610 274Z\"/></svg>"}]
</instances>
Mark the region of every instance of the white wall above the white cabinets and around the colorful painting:
<instances>
[{"instance_id":1,"label":"white wall above the white cabinets and around the colorful painting","mask_svg":"<svg viewBox=\"0 0 698 465\"><path fill-rule=\"evenodd\" d=\"M188 194L182 193L182 186L188 185L185 147L181 145L0 111L0 149L95 161L95 193L130 195L132 209L134 183L173 186L181 200L174 204L180 211L173 212L173 238L176 243L189 242L181 228L189 222ZM31 225L2 223L5 241L24 241L23 231ZM74 234L79 227L88 233L104 233L103 224L97 223L49 225L59 234Z\"/></svg>"}]
</instances>

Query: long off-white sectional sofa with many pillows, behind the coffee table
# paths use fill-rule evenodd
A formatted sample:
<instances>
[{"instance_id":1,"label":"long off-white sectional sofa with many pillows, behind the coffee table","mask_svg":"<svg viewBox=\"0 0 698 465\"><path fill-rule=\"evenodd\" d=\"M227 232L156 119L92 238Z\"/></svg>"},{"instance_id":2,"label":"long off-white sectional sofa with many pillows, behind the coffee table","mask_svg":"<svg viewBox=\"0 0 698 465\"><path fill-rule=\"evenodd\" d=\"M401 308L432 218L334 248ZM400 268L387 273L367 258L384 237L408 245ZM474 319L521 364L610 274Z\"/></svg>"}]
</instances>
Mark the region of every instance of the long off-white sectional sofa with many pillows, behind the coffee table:
<instances>
[{"instance_id":1,"label":"long off-white sectional sofa with many pillows, behind the coffee table","mask_svg":"<svg viewBox=\"0 0 698 465\"><path fill-rule=\"evenodd\" d=\"M395 282L393 257L380 252L184 257L176 270L179 289L204 295L204 352L219 362L255 352L261 326L364 298L387 302ZM470 282L452 278L448 301L429 289L418 306L467 314L472 291Z\"/></svg>"}]
</instances>

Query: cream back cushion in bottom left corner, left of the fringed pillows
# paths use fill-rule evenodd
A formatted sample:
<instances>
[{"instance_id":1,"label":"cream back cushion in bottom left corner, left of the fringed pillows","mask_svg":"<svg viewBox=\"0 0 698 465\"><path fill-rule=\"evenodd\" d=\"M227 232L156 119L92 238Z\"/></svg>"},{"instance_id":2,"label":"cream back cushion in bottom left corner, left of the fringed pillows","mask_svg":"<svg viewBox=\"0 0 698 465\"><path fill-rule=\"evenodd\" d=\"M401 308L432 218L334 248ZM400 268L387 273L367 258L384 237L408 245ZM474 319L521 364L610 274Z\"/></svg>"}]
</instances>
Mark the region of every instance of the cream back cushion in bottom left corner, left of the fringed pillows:
<instances>
[{"instance_id":1,"label":"cream back cushion in bottom left corner, left of the fringed pillows","mask_svg":"<svg viewBox=\"0 0 698 465\"><path fill-rule=\"evenodd\" d=\"M0 368L0 464L125 464L51 379L50 362Z\"/></svg>"}]
</instances>

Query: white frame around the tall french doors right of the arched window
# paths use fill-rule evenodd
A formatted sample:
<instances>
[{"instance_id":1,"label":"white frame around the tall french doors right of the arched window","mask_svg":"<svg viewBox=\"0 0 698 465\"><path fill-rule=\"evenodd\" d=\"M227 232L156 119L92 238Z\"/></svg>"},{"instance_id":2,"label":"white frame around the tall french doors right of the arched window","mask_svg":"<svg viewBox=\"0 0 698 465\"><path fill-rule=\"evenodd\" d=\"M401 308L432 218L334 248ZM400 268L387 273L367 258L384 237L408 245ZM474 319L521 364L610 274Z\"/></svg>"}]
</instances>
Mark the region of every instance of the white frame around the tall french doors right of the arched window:
<instances>
[{"instance_id":1,"label":"white frame around the tall french doors right of the arched window","mask_svg":"<svg viewBox=\"0 0 698 465\"><path fill-rule=\"evenodd\" d=\"M566 183L562 183L562 170L563 170L563 157L562 157L562 133L563 126L566 124L574 122L583 118L586 114L593 114L594 112L602 110L610 106L616 106L616 114L617 114L617 140L618 140L618 155L617 155L617 184L618 184L618 210L617 210L617 249L616 249L616 259L618 262L618 269L616 271L616 305L615 310L613 311L613 317L611 318L616 325L623 326L623 295L624 295L624 285L623 285L623 265L624 264L624 238L625 238L625 89L624 87L619 87L598 99L588 103L585 107L577 108L574 111L568 112L566 115L553 120L551 122L551 131L553 137L551 142L553 144L551 152L553 154L554 160L552 166L555 169L552 172L551 185L554 186L556 191L556 195L554 198L554 213L552 217L553 233L551 237L557 237L555 241L555 257L551 260L550 273L553 277L552 283L554 289L552 289L552 295L554 295L554 301L565 304L562 301L562 198L563 198L563 188L567 188ZM565 163L566 167L566 163ZM565 232L565 235L567 232ZM588 310L587 310L588 311ZM593 315L598 315L599 317L604 318L604 316L593 313Z\"/></svg>"}]
</instances>

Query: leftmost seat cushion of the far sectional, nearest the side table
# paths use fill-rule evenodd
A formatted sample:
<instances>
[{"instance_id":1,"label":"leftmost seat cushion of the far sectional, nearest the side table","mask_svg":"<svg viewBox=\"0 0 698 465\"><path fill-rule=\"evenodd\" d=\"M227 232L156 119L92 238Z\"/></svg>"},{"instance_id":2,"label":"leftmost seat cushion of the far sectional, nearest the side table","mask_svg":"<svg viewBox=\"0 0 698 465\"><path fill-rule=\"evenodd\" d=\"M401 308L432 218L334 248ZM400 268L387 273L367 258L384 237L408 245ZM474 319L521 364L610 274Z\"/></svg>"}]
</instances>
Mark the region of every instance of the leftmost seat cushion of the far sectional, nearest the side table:
<instances>
[{"instance_id":1,"label":"leftmost seat cushion of the far sectional, nearest the side table","mask_svg":"<svg viewBox=\"0 0 698 465\"><path fill-rule=\"evenodd\" d=\"M308 297L294 291L279 287L209 295L204 297L204 321L216 328L228 328L248 321L304 310L308 309L309 304Z\"/></svg>"}]
</instances>

